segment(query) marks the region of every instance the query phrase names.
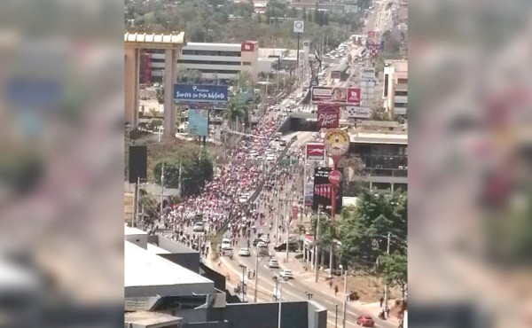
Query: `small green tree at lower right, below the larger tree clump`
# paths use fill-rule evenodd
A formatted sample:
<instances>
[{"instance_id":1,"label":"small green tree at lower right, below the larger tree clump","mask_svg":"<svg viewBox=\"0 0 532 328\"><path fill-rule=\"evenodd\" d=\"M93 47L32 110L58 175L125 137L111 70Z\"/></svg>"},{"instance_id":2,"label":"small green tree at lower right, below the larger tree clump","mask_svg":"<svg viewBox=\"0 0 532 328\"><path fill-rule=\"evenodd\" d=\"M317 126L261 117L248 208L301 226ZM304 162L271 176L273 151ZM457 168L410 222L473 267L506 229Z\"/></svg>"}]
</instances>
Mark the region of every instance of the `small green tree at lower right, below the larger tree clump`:
<instances>
[{"instance_id":1,"label":"small green tree at lower right, below the larger tree clump","mask_svg":"<svg viewBox=\"0 0 532 328\"><path fill-rule=\"evenodd\" d=\"M408 283L408 259L406 254L395 252L379 257L379 273L384 277L387 285L401 288L403 301Z\"/></svg>"}]
</instances>

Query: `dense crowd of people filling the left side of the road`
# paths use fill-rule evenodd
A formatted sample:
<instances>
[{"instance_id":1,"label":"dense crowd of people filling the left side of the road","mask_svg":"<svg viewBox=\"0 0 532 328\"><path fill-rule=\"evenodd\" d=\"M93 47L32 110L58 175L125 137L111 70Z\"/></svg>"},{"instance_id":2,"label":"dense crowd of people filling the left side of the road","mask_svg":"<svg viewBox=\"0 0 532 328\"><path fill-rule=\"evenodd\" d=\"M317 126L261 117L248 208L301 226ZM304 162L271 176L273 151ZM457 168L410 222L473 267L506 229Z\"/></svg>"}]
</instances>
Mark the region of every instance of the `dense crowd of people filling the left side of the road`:
<instances>
[{"instance_id":1,"label":"dense crowd of people filling the left side of the road","mask_svg":"<svg viewBox=\"0 0 532 328\"><path fill-rule=\"evenodd\" d=\"M146 229L150 233L157 229L170 231L174 240L207 254L206 243L191 229L199 217L205 224L206 234L227 225L228 235L234 243L241 237L250 238L256 224L262 225L266 219L271 222L273 207L264 204L271 203L278 192L279 182L286 181L288 172L272 161L257 162L250 152L265 152L280 123L279 116L264 117L251 131L254 137L240 137L238 146L228 151L227 157L231 160L215 169L213 179L199 194L187 197L179 204L169 204L160 219L145 222ZM295 158L297 153L291 151L287 155ZM260 199L266 201L246 201L262 181L266 192ZM257 208L257 204L262 206Z\"/></svg>"}]
</instances>

